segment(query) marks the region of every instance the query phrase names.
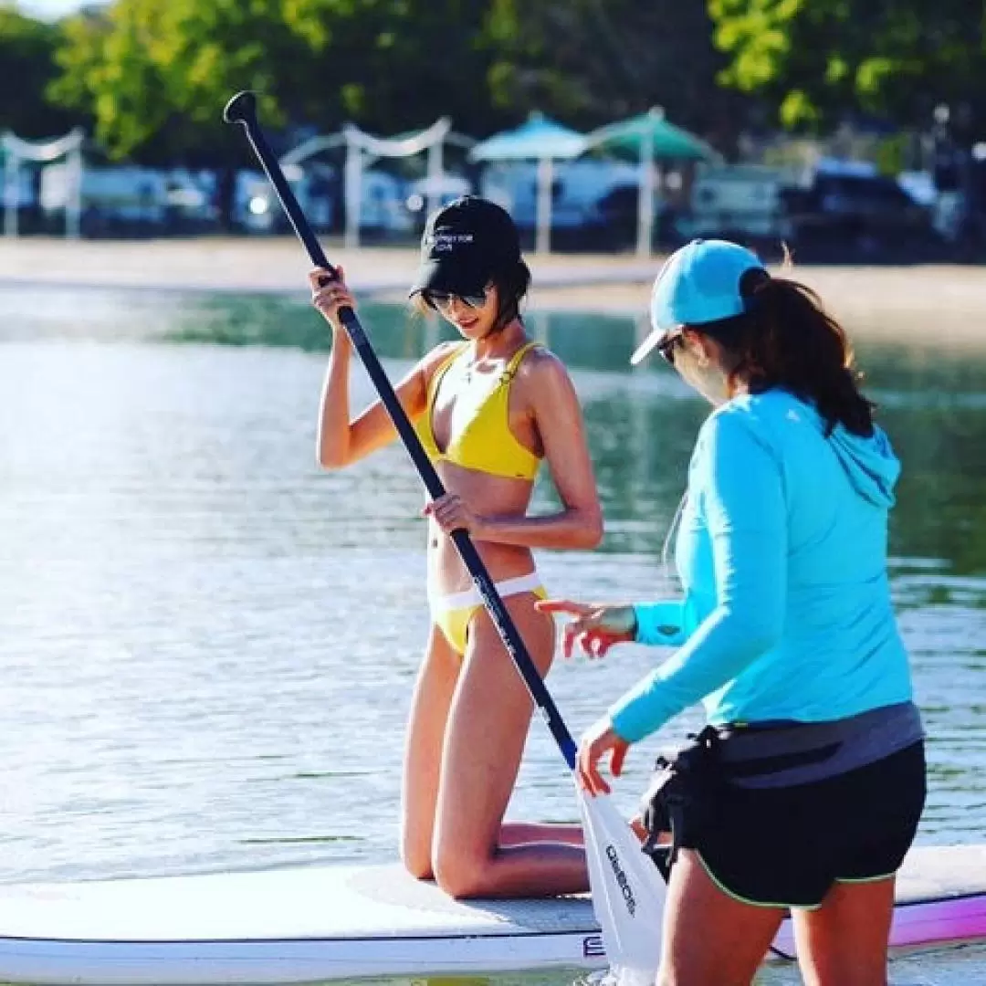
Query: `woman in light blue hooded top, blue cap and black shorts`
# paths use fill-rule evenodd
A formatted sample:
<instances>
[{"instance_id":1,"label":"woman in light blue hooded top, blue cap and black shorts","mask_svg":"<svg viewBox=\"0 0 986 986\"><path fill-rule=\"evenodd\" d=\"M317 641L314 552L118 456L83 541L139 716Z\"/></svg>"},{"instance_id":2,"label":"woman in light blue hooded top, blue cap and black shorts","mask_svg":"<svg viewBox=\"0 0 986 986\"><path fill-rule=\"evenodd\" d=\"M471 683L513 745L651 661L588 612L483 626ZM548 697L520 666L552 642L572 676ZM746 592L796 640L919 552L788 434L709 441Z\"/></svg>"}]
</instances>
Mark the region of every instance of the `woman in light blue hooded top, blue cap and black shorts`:
<instances>
[{"instance_id":1,"label":"woman in light blue hooded top, blue cap and black shorts","mask_svg":"<svg viewBox=\"0 0 986 986\"><path fill-rule=\"evenodd\" d=\"M675 543L684 598L541 606L575 617L566 654L677 647L590 729L580 781L608 790L601 759L618 775L631 743L701 700L709 725L646 813L675 844L660 983L746 986L790 907L809 986L885 986L925 800L886 569L899 463L842 328L747 249L683 246L651 314L635 361L658 349L715 410Z\"/></svg>"}]
</instances>

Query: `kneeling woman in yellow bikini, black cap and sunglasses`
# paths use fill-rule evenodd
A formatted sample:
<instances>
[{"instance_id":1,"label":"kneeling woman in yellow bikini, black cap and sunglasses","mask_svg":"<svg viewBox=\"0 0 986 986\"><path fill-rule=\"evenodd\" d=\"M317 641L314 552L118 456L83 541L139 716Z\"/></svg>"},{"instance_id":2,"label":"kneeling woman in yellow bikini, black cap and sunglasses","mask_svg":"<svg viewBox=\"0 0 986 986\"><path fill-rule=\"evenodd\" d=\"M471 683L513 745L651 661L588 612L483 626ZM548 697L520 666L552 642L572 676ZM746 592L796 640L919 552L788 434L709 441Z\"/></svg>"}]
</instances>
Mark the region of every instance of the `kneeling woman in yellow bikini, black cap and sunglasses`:
<instances>
[{"instance_id":1,"label":"kneeling woman in yellow bikini, black cap and sunglasses","mask_svg":"<svg viewBox=\"0 0 986 986\"><path fill-rule=\"evenodd\" d=\"M338 314L355 307L345 282L311 275L313 302L332 326L318 422L318 461L342 468L391 442L378 401L350 420L352 347ZM397 397L448 494L429 503L432 627L418 674L404 757L401 856L449 893L535 896L588 886L577 825L504 822L532 704L448 534L476 544L543 676L554 623L532 548L595 547L602 519L579 401L562 363L528 339L520 315L530 273L510 216L482 198L433 215L411 290L460 341L428 353ZM547 462L561 510L528 517L534 477Z\"/></svg>"}]
</instances>

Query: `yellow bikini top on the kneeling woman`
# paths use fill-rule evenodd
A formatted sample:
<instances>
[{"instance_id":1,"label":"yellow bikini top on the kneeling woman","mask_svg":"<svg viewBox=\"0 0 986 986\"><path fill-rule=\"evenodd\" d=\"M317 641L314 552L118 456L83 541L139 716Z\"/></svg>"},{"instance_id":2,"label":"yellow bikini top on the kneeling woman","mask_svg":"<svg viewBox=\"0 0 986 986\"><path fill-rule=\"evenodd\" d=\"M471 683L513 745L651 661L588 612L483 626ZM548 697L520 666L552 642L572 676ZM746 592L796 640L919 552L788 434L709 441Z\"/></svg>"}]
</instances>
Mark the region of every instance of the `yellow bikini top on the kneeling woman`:
<instances>
[{"instance_id":1,"label":"yellow bikini top on the kneeling woman","mask_svg":"<svg viewBox=\"0 0 986 986\"><path fill-rule=\"evenodd\" d=\"M510 384L517 373L528 350L538 345L528 342L522 346L507 364L507 369L494 381L493 387L486 393L463 394L457 398L457 410L463 400L473 402L471 416L465 425L452 436L449 448L442 452L435 441L432 428L432 412L435 408L435 398L442 378L449 368L468 348L463 342L443 360L432 375L428 386L428 401L425 413L417 420L414 430L417 432L425 453L433 462L453 462L465 469L475 469L477 472L488 472L494 476L507 476L513 479L533 479L541 463L540 458L533 455L514 437L510 430L509 400Z\"/></svg>"}]
</instances>

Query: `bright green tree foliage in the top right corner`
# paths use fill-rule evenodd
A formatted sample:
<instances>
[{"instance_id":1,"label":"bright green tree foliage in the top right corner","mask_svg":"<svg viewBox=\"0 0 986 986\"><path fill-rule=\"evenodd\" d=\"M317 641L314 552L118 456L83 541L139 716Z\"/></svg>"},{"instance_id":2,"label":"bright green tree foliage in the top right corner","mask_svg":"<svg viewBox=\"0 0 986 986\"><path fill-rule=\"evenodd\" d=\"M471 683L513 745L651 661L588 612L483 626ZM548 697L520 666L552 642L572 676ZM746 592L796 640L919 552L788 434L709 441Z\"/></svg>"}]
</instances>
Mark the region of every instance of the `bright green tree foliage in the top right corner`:
<instances>
[{"instance_id":1,"label":"bright green tree foliage in the top right corner","mask_svg":"<svg viewBox=\"0 0 986 986\"><path fill-rule=\"evenodd\" d=\"M982 0L708 0L722 80L789 126L847 111L926 124L938 103L986 109Z\"/></svg>"}]
</instances>

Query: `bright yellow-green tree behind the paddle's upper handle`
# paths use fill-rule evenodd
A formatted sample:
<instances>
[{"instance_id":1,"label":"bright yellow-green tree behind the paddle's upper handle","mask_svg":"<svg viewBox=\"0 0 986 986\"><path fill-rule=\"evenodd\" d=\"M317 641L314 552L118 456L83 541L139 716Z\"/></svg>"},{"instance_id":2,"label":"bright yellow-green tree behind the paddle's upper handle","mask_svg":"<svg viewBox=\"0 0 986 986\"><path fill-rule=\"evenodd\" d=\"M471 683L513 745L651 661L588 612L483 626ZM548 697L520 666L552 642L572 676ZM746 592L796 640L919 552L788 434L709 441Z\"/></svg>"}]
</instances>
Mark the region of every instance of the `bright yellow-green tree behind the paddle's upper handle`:
<instances>
[{"instance_id":1,"label":"bright yellow-green tree behind the paddle's upper handle","mask_svg":"<svg viewBox=\"0 0 986 986\"><path fill-rule=\"evenodd\" d=\"M256 89L262 111L283 120L314 61L314 25L287 21L298 2L116 0L66 21L62 77L52 97L92 107L97 137L115 157L150 149L191 160L225 160L231 137L222 107ZM317 35L315 35L317 37ZM286 70L291 66L291 70Z\"/></svg>"}]
</instances>

